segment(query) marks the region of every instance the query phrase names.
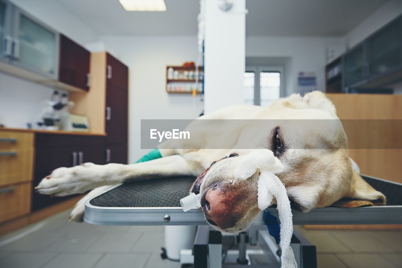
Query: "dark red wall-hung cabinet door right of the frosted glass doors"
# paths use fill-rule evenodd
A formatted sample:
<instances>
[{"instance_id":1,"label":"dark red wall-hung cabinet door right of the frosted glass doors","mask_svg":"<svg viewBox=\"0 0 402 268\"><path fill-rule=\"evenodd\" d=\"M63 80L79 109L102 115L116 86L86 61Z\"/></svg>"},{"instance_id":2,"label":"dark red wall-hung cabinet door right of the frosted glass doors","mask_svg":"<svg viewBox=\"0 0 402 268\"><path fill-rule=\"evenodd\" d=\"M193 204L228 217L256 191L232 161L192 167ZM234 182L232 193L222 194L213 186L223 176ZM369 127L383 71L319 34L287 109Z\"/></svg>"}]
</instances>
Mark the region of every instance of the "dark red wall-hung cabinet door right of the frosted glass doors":
<instances>
[{"instance_id":1,"label":"dark red wall-hung cabinet door right of the frosted glass doors","mask_svg":"<svg viewBox=\"0 0 402 268\"><path fill-rule=\"evenodd\" d=\"M59 81L89 90L90 52L65 35L60 35Z\"/></svg>"}]
</instances>

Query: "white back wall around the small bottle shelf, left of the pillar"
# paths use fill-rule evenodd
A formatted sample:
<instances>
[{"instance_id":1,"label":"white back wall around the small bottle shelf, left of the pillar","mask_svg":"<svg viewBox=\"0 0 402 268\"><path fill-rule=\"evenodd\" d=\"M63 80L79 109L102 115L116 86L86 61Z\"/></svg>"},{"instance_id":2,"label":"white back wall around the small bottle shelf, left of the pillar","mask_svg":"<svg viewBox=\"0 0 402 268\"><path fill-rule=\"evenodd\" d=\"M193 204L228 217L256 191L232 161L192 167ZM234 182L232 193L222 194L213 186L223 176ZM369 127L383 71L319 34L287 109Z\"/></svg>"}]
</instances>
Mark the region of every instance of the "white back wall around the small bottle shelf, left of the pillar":
<instances>
[{"instance_id":1,"label":"white back wall around the small bottle shelf, left of the pillar","mask_svg":"<svg viewBox=\"0 0 402 268\"><path fill-rule=\"evenodd\" d=\"M141 150L141 119L193 119L203 110L200 96L168 94L166 66L197 60L197 37L103 36L129 68L129 163L146 154Z\"/></svg>"}]
</instances>

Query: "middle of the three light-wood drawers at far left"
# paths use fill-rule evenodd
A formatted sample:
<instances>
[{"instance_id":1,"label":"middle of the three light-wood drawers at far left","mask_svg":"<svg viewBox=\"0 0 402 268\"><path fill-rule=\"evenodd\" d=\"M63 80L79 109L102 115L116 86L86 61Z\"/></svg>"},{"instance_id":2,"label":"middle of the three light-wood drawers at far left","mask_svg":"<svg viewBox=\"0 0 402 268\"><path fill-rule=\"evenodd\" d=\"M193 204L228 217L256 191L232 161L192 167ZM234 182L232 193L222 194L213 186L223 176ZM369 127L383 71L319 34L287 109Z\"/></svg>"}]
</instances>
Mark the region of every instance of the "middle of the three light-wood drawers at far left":
<instances>
[{"instance_id":1,"label":"middle of the three light-wood drawers at far left","mask_svg":"<svg viewBox=\"0 0 402 268\"><path fill-rule=\"evenodd\" d=\"M0 187L32 180L33 153L32 147L0 148Z\"/></svg>"}]
</instances>

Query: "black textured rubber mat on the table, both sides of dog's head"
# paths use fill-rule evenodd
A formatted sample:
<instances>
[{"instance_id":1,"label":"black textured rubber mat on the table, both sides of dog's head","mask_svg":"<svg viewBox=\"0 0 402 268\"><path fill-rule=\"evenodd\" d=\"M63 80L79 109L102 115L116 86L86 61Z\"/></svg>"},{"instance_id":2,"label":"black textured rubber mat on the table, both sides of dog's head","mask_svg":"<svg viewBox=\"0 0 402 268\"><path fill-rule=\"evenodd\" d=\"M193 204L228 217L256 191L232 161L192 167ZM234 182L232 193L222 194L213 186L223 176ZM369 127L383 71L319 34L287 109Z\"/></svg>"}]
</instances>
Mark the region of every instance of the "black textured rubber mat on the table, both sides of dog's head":
<instances>
[{"instance_id":1,"label":"black textured rubber mat on the table, both sides of dog's head","mask_svg":"<svg viewBox=\"0 0 402 268\"><path fill-rule=\"evenodd\" d=\"M402 185L362 176L387 198L388 206L402 205ZM90 201L99 207L180 207L180 198L189 194L195 177L150 179L124 183Z\"/></svg>"}]
</instances>

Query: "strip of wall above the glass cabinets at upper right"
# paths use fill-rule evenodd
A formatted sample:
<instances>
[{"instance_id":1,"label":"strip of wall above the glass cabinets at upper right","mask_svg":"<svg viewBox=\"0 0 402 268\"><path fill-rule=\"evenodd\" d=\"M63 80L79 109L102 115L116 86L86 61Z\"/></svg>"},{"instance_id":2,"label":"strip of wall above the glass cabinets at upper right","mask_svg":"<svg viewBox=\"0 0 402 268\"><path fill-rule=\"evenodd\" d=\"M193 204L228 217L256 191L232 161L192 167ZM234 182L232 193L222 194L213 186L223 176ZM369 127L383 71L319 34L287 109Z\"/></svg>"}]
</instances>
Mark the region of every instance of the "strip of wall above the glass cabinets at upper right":
<instances>
[{"instance_id":1,"label":"strip of wall above the glass cabinets at upper right","mask_svg":"<svg viewBox=\"0 0 402 268\"><path fill-rule=\"evenodd\" d=\"M390 0L377 11L362 21L346 36L345 41L349 48L363 41L366 37L402 14L402 1Z\"/></svg>"}]
</instances>

